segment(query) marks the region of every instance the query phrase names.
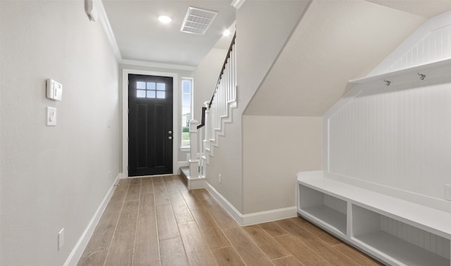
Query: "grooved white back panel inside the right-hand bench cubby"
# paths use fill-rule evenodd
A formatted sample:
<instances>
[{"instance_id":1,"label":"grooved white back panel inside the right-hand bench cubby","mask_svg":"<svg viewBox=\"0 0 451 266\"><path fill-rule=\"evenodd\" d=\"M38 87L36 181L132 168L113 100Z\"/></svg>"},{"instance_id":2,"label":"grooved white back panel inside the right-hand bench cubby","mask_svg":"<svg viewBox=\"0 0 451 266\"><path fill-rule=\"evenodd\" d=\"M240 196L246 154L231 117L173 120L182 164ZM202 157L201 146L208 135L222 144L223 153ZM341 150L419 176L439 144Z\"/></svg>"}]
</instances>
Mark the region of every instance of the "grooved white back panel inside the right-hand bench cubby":
<instances>
[{"instance_id":1,"label":"grooved white back panel inside the right-hand bench cubby","mask_svg":"<svg viewBox=\"0 0 451 266\"><path fill-rule=\"evenodd\" d=\"M450 258L450 240L442 236L431 234L385 216L381 217L381 229L388 234L420 246L427 251L431 251L444 258Z\"/></svg>"}]
</instances>

